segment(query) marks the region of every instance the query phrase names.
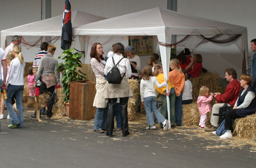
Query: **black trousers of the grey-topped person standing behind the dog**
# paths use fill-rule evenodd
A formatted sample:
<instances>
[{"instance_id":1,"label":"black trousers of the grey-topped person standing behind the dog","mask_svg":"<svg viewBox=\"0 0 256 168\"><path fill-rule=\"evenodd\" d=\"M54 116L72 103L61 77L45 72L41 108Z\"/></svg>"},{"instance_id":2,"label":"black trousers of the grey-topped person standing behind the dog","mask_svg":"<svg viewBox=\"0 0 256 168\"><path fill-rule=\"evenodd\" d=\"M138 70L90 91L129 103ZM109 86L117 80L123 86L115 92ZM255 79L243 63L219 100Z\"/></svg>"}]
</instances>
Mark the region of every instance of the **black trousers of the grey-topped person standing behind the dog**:
<instances>
[{"instance_id":1,"label":"black trousers of the grey-topped person standing behind the dog","mask_svg":"<svg viewBox=\"0 0 256 168\"><path fill-rule=\"evenodd\" d=\"M43 92L50 92L50 93L54 93L55 90L55 86L46 87L46 83L44 83L43 81L41 82L40 85L40 94L42 94ZM51 97L51 99L47 102L47 111L46 111L46 115L47 117L52 117L52 106L54 104L54 96Z\"/></svg>"}]
</instances>

